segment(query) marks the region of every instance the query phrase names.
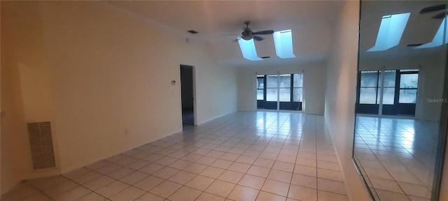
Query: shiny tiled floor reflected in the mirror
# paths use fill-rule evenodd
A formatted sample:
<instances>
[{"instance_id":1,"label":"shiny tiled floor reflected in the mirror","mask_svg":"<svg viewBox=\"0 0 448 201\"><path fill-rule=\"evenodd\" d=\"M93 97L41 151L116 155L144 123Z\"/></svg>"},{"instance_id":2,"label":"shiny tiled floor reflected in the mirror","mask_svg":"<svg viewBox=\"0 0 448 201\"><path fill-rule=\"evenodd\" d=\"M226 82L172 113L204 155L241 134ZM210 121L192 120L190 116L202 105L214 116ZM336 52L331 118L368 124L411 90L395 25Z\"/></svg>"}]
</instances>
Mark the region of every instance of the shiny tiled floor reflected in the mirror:
<instances>
[{"instance_id":1,"label":"shiny tiled floor reflected in the mirror","mask_svg":"<svg viewBox=\"0 0 448 201\"><path fill-rule=\"evenodd\" d=\"M377 200L430 200L438 124L357 117L355 156Z\"/></svg>"}]
</instances>

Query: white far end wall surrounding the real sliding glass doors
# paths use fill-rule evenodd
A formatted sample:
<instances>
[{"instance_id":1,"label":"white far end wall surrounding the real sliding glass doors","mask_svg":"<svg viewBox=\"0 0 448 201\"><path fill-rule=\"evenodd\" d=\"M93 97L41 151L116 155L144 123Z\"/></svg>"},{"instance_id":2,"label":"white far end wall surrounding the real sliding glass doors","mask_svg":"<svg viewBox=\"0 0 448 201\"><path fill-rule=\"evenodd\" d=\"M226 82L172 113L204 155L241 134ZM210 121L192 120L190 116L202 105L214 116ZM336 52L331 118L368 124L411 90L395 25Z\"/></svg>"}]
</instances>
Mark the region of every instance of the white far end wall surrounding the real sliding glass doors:
<instances>
[{"instance_id":1,"label":"white far end wall surrounding the real sliding glass doors","mask_svg":"<svg viewBox=\"0 0 448 201\"><path fill-rule=\"evenodd\" d=\"M325 100L325 64L297 64L294 66L240 67L238 70L238 110L256 110L256 75L303 73L303 111L323 114Z\"/></svg>"}]
</instances>

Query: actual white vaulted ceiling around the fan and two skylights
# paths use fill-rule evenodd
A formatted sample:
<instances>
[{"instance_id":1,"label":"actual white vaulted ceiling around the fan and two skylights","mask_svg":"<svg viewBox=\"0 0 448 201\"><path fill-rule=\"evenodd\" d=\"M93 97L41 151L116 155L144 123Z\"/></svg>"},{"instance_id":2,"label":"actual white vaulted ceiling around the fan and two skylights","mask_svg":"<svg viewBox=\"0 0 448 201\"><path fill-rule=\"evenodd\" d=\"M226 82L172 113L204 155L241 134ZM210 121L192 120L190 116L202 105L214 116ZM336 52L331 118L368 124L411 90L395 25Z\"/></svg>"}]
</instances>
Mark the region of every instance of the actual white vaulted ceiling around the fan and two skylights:
<instances>
[{"instance_id":1,"label":"actual white vaulted ceiling around the fan and two skylights","mask_svg":"<svg viewBox=\"0 0 448 201\"><path fill-rule=\"evenodd\" d=\"M191 40L207 45L216 61L232 66L287 65L324 61L330 50L332 30L340 1L108 1L186 33ZM249 20L253 31L291 29L296 58L280 59L272 35L255 41L258 57L248 61L234 42ZM189 34L188 30L198 34Z\"/></svg>"}]
</instances>

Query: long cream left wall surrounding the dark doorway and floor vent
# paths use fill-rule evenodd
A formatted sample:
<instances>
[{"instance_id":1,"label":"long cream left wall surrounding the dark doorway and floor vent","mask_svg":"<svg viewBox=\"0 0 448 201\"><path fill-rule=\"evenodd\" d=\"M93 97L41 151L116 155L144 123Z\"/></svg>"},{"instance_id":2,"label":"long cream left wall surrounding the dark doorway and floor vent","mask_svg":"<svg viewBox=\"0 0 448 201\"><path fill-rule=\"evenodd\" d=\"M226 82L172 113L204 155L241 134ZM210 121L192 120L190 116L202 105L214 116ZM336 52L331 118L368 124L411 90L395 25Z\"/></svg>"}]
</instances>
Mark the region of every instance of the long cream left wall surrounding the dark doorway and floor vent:
<instances>
[{"instance_id":1,"label":"long cream left wall surrounding the dark doorway and floor vent","mask_svg":"<svg viewBox=\"0 0 448 201\"><path fill-rule=\"evenodd\" d=\"M195 66L199 124L236 111L236 68L151 20L94 1L1 9L2 193L181 131L180 64ZM60 169L36 172L26 123L43 119Z\"/></svg>"}]
</instances>

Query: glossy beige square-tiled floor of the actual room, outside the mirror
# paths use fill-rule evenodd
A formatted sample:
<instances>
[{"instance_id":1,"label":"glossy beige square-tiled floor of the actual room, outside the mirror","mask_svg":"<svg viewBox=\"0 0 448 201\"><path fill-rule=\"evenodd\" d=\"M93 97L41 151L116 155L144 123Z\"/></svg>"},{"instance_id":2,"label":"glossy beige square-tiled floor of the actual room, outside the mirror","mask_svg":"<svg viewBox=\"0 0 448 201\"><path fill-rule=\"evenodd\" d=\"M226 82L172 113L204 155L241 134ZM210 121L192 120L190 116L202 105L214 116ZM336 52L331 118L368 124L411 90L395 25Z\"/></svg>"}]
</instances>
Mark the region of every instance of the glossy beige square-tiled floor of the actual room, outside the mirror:
<instances>
[{"instance_id":1,"label":"glossy beige square-tiled floor of the actual room, outside the mirror","mask_svg":"<svg viewBox=\"0 0 448 201\"><path fill-rule=\"evenodd\" d=\"M322 116L235 112L67 174L9 200L347 200Z\"/></svg>"}]
</instances>

